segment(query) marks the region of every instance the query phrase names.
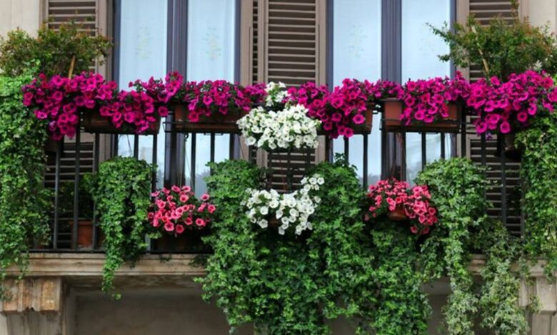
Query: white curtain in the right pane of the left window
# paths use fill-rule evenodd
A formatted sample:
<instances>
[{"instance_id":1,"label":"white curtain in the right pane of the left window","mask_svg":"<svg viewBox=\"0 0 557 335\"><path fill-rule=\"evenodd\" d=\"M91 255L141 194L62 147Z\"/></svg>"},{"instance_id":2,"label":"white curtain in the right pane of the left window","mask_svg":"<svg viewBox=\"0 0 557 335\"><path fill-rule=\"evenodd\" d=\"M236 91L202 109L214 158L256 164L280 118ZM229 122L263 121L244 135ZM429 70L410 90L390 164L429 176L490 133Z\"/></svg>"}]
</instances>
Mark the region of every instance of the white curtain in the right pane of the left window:
<instances>
[{"instance_id":1,"label":"white curtain in the right pane of the left window","mask_svg":"<svg viewBox=\"0 0 557 335\"><path fill-rule=\"evenodd\" d=\"M188 81L224 79L234 81L236 45L235 0L188 1ZM215 161L228 158L230 135L215 135ZM206 192L203 178L209 175L211 136L196 135L196 195ZM184 174L191 175L191 140L186 143Z\"/></svg>"}]
</instances>

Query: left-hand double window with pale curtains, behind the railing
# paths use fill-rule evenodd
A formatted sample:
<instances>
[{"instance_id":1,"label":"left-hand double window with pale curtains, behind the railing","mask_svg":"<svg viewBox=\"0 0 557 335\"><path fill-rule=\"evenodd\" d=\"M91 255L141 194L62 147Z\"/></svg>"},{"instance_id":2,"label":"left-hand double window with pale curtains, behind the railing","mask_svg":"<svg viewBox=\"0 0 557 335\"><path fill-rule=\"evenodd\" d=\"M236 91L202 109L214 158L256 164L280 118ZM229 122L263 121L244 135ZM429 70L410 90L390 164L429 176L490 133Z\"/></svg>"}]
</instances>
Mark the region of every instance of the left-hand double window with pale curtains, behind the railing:
<instances>
[{"instance_id":1,"label":"left-hand double window with pale curtains, behind the railing","mask_svg":"<svg viewBox=\"0 0 557 335\"><path fill-rule=\"evenodd\" d=\"M116 1L116 81L124 88L169 71L188 81L235 81L236 5L236 0ZM192 185L199 195L206 191L206 163L229 158L234 136L165 133L170 127L169 117L156 137L119 135L116 153L156 163L157 187L166 180Z\"/></svg>"}]
</instances>

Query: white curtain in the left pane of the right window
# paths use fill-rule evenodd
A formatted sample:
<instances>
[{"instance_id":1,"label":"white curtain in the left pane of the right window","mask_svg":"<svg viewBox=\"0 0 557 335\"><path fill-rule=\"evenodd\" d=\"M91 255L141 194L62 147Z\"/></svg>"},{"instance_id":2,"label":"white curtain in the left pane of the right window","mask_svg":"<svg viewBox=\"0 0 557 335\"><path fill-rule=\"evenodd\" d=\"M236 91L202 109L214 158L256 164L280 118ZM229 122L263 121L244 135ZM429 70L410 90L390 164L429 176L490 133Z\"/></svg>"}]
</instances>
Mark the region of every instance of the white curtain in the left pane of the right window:
<instances>
[{"instance_id":1,"label":"white curtain in the left pane of the right window","mask_svg":"<svg viewBox=\"0 0 557 335\"><path fill-rule=\"evenodd\" d=\"M333 1L333 84L344 78L381 78L381 0ZM373 129L368 135L368 183L381 177L380 115L374 115ZM342 138L333 141L333 152L343 153ZM363 136L349 140L348 159L363 174Z\"/></svg>"}]
</instances>

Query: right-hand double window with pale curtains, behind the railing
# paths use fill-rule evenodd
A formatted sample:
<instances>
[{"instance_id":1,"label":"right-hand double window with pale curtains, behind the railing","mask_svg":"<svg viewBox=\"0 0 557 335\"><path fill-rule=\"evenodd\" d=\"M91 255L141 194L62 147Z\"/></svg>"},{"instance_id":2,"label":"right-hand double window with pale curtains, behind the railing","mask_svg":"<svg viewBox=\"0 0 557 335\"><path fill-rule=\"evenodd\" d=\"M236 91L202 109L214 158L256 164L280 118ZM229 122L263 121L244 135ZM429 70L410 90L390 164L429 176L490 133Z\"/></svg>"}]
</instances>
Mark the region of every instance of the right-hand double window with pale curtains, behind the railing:
<instances>
[{"instance_id":1,"label":"right-hand double window with pale curtains, behind the railing","mask_svg":"<svg viewBox=\"0 0 557 335\"><path fill-rule=\"evenodd\" d=\"M408 78L451 76L451 64L438 59L448 48L427 24L441 26L452 21L453 1L330 0L331 87L343 78L383 78L403 83ZM451 155L453 135L395 135L382 133L380 126L381 115L374 115L370 135L333 140L333 153L348 156L363 185L381 176L413 180L425 163Z\"/></svg>"}]
</instances>

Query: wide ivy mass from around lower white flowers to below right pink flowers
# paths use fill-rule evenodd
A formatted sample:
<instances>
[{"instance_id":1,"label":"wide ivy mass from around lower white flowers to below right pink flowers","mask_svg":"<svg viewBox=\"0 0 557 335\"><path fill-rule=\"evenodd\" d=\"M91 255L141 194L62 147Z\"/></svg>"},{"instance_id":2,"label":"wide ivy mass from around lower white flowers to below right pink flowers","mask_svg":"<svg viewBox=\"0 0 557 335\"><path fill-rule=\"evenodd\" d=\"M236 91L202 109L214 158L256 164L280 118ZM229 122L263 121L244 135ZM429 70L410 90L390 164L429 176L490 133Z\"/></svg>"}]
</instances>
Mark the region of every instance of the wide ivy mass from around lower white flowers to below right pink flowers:
<instances>
[{"instance_id":1,"label":"wide ivy mass from around lower white flowers to below right pink flowers","mask_svg":"<svg viewBox=\"0 0 557 335\"><path fill-rule=\"evenodd\" d=\"M206 259L204 298L216 299L232 329L253 322L265 334L328 334L326 320L357 320L358 334L425 334L429 308L420 292L409 230L363 224L364 192L353 167L337 158L308 175L325 180L301 237L261 229L241 205L264 173L244 161L211 165L206 178L218 208L214 254ZM370 239L371 236L371 239Z\"/></svg>"}]
</instances>

